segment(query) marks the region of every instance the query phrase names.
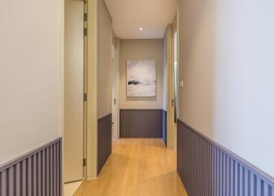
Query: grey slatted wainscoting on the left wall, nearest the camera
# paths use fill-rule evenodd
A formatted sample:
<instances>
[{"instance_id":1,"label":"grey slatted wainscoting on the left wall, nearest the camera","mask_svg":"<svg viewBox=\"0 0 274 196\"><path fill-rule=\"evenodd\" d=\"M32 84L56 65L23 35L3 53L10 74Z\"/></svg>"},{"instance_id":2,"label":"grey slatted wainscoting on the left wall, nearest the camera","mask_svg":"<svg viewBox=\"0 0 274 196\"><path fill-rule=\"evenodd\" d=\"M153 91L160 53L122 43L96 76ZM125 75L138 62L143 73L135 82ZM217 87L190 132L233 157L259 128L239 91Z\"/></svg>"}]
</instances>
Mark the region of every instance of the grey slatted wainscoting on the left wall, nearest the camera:
<instances>
[{"instance_id":1,"label":"grey slatted wainscoting on the left wall, nearest the camera","mask_svg":"<svg viewBox=\"0 0 274 196\"><path fill-rule=\"evenodd\" d=\"M0 166L0 195L62 195L62 139Z\"/></svg>"}]
</instances>

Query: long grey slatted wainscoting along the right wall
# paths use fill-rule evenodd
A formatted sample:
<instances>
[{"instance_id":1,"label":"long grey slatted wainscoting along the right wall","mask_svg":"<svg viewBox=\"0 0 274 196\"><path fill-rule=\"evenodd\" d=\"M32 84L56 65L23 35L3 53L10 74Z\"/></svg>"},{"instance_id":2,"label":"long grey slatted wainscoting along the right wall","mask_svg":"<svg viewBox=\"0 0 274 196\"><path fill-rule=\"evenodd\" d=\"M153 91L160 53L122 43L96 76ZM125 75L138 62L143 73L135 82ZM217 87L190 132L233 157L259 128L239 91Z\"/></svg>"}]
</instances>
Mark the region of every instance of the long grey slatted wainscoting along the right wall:
<instances>
[{"instance_id":1,"label":"long grey slatted wainscoting along the right wall","mask_svg":"<svg viewBox=\"0 0 274 196\"><path fill-rule=\"evenodd\" d=\"M274 179L178 120L177 171L190 196L274 196Z\"/></svg>"}]
</instances>

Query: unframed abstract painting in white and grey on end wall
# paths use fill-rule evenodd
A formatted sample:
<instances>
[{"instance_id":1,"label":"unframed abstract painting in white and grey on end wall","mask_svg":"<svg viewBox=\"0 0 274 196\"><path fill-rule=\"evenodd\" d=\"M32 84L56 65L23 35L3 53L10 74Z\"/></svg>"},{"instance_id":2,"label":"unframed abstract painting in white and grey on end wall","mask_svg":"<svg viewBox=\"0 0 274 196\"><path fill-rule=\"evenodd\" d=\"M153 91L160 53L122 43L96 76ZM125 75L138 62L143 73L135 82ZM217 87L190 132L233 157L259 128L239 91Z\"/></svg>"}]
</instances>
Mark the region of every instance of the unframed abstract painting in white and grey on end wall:
<instances>
[{"instance_id":1,"label":"unframed abstract painting in white and grey on end wall","mask_svg":"<svg viewBox=\"0 0 274 196\"><path fill-rule=\"evenodd\" d=\"M127 97L156 96L156 60L127 60Z\"/></svg>"}]
</instances>

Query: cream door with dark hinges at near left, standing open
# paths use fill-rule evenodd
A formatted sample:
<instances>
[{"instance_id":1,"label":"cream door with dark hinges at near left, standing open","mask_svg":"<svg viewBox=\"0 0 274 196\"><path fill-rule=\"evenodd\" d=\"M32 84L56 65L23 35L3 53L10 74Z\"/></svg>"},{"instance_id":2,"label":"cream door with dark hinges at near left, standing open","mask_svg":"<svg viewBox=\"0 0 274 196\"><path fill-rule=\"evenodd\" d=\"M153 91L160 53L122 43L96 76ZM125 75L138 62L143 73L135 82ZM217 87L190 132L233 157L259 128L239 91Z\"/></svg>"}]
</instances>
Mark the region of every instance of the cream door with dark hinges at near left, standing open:
<instances>
[{"instance_id":1,"label":"cream door with dark hinges at near left, standing open","mask_svg":"<svg viewBox=\"0 0 274 196\"><path fill-rule=\"evenodd\" d=\"M83 179L84 1L64 7L64 182Z\"/></svg>"}]
</instances>

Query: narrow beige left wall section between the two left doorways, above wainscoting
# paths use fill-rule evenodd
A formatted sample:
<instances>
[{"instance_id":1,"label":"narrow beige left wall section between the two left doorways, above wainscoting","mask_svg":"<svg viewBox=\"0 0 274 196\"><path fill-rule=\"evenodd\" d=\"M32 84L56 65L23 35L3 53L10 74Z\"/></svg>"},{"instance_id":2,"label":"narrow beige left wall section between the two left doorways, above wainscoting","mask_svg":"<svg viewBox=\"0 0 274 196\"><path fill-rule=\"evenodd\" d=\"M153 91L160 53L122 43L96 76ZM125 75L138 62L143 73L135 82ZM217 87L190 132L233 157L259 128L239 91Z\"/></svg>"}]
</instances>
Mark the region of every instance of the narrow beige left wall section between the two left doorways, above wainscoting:
<instances>
[{"instance_id":1,"label":"narrow beige left wall section between the two left doorways, above wainscoting","mask_svg":"<svg viewBox=\"0 0 274 196\"><path fill-rule=\"evenodd\" d=\"M98 1L98 64L97 64L97 115L98 118L111 113L111 44L112 19L103 0Z\"/></svg>"}]
</instances>

